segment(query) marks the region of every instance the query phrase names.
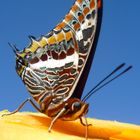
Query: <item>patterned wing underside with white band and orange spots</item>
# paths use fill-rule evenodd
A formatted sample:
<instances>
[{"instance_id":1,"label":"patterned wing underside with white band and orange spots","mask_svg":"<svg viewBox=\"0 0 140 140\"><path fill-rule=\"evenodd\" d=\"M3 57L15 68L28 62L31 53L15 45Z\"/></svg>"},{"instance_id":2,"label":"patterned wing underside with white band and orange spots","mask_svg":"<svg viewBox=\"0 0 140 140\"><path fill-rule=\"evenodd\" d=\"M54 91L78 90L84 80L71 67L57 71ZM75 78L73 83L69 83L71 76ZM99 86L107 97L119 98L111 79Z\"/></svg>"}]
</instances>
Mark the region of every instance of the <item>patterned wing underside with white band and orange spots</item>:
<instances>
[{"instance_id":1,"label":"patterned wing underside with white band and orange spots","mask_svg":"<svg viewBox=\"0 0 140 140\"><path fill-rule=\"evenodd\" d=\"M30 37L31 44L17 54L18 61L25 63L17 68L18 74L39 104L47 99L53 108L73 95L81 97L96 48L100 2L76 0L61 23L40 40ZM85 80L81 81L83 74Z\"/></svg>"}]
</instances>

